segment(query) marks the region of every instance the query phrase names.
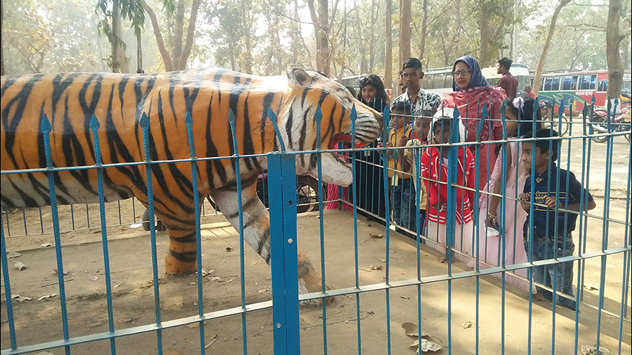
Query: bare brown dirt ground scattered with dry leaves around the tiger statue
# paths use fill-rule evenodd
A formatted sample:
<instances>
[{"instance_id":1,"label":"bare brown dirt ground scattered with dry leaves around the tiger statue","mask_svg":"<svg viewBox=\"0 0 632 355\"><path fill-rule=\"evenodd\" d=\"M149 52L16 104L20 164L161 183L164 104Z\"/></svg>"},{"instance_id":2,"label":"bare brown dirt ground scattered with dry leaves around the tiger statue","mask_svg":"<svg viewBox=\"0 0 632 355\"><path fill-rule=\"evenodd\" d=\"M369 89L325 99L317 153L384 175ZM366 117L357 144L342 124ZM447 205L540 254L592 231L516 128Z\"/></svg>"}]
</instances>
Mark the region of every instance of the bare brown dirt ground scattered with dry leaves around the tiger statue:
<instances>
[{"instance_id":1,"label":"bare brown dirt ground scattered with dry leaves around the tiger statue","mask_svg":"<svg viewBox=\"0 0 632 355\"><path fill-rule=\"evenodd\" d=\"M624 204L623 204L624 206ZM320 270L317 213L299 216L299 246L309 253ZM220 216L218 216L220 217ZM218 218L215 217L215 218ZM326 280L336 288L351 287L355 283L353 259L353 214L328 211L324 215ZM370 225L372 224L372 225ZM204 312L224 310L240 306L238 235L225 222L206 224L203 231L203 268L214 270L223 280L203 281ZM122 229L114 227L113 229ZM112 228L109 228L112 229ZM136 229L138 230L138 229ZM141 230L141 229L140 229ZM149 234L136 231L109 238L109 255L113 288L114 327L124 329L155 322L154 297L151 275ZM358 218L358 253L360 258L360 283L383 283L385 271L371 270L371 266L384 263L385 239L371 239L370 234L384 234L384 226L365 222ZM109 233L109 230L108 230ZM415 278L416 249L410 239L391 232L390 280ZM623 242L623 233L611 232L611 242ZM31 249L27 248L27 239ZM68 239L68 240L67 240ZM160 273L161 319L163 322L197 315L196 276L166 276L163 273L164 252L168 236L157 234L158 265ZM19 258L9 259L10 266L21 261L28 268L17 271L11 268L11 292L13 295L32 297L33 300L14 302L17 340L19 345L36 344L63 339L60 304L58 297L38 301L38 297L58 293L56 283L55 250L40 244L49 242L43 236L7 239L10 251L20 251ZM34 248L33 248L34 247ZM232 251L227 251L227 247ZM445 263L441 255L422 246L420 265L422 276L443 275ZM72 232L63 236L63 261L70 275L65 277L65 293L68 299L68 324L70 336L107 332L107 301L103 272L100 234L90 231ZM592 265L594 261L594 266ZM587 261L587 283L599 285L599 260ZM596 269L594 269L596 268ZM606 272L606 310L618 314L621 301L621 256L609 258ZM465 271L457 263L453 273ZM97 277L95 279L95 276ZM594 279L596 276L596 279ZM245 249L245 299L247 303L271 300L269 268L252 249ZM499 280L482 277L479 285L478 324L476 324L476 278L451 282L451 349L452 354L474 354L476 327L478 349L481 354L500 354L501 339L501 290ZM3 288L4 291L4 288ZM586 290L584 300L596 304L599 291ZM421 288L422 329L436 337L439 344L448 344L448 284L430 283ZM628 293L628 306L630 305ZM628 307L628 320L630 314ZM1 316L1 348L7 349L9 327L6 307ZM301 307L301 350L304 354L323 353L322 308ZM355 296L337 297L326 309L328 354L354 354L357 352ZM596 311L582 307L579 315L579 345L596 341ZM525 354L529 321L528 298L524 293L507 287L505 293L505 354ZM551 305L545 301L534 302L532 307L532 354L550 354L552 346L553 316ZM385 291L360 295L360 336L363 354L386 354L390 339L392 354L414 354L409 347L414 339L407 337L402 323L417 323L417 288L396 288L390 291L390 338L387 334ZM473 327L461 324L472 322ZM246 315L248 354L272 354L272 310L249 312ZM618 346L618 320L601 318L601 346L616 352ZM220 318L205 323L207 354L241 354L242 322L240 315ZM624 322L622 354L631 351L629 323ZM137 334L117 339L119 354L156 354L156 334ZM199 354L199 329L176 327L163 332L164 349L174 349L181 354ZM555 313L555 354L574 352L574 312L557 308ZM72 347L74 354L109 353L109 342L94 342ZM63 354L63 349L49 350ZM447 354L446 349L441 354Z\"/></svg>"}]
</instances>

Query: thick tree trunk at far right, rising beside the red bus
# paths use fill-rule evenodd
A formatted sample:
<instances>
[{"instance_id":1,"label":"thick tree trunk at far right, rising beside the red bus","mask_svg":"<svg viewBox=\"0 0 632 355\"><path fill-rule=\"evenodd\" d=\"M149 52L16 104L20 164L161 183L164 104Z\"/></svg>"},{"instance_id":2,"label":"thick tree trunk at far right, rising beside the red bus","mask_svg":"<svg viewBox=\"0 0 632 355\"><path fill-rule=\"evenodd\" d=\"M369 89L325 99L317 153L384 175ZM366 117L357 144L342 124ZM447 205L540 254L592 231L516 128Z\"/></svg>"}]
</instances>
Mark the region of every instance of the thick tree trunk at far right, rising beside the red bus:
<instances>
[{"instance_id":1,"label":"thick tree trunk at far right, rising beside the red bus","mask_svg":"<svg viewBox=\"0 0 632 355\"><path fill-rule=\"evenodd\" d=\"M608 97L616 99L621 95L623 85L623 61L619 43L626 36L619 32L621 18L621 0L610 0L608 22L606 24L606 61L608 62Z\"/></svg>"}]
</instances>

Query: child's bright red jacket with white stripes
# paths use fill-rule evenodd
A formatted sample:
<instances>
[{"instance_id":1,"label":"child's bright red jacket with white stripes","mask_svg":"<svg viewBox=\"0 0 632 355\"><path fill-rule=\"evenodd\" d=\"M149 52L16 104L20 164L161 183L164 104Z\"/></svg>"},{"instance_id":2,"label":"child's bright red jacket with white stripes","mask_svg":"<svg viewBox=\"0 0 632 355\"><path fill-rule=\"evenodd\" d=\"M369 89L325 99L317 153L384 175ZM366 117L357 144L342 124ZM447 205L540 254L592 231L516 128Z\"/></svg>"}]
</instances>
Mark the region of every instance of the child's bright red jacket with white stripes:
<instances>
[{"instance_id":1,"label":"child's bright red jacket with white stripes","mask_svg":"<svg viewBox=\"0 0 632 355\"><path fill-rule=\"evenodd\" d=\"M446 212L448 202L448 166L441 161L439 148L429 147L422 155L422 178L428 192L427 218L431 222L446 224ZM456 185L476 189L474 156L464 146L459 146L459 166L456 169ZM432 181L438 180L443 184ZM472 220L472 204L476 192L456 188L456 222L466 224ZM439 203L439 211L434 207Z\"/></svg>"}]
</instances>

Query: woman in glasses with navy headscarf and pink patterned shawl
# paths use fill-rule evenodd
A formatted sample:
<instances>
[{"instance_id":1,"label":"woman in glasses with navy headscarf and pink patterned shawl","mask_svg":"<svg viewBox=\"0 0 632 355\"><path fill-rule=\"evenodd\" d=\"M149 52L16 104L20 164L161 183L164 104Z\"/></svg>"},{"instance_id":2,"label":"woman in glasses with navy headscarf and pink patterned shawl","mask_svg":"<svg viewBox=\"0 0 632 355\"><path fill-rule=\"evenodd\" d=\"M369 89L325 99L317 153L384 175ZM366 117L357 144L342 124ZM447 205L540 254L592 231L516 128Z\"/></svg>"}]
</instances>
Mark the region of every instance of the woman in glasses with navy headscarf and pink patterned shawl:
<instances>
[{"instance_id":1,"label":"woman in glasses with navy headscarf and pink patterned shawl","mask_svg":"<svg viewBox=\"0 0 632 355\"><path fill-rule=\"evenodd\" d=\"M481 130L481 142L498 141L503 138L503 124L500 121L500 106L507 98L505 90L501 87L493 87L485 80L481 67L471 55L465 55L454 62L452 66L453 92L444 97L444 107L458 108L466 126L466 142L476 142L476 125L481 117L483 104L488 110L488 117L483 122ZM476 146L469 146L471 152L476 154ZM496 144L484 144L480 150L480 180L478 188L488 182L489 173L493 171L496 162Z\"/></svg>"}]
</instances>

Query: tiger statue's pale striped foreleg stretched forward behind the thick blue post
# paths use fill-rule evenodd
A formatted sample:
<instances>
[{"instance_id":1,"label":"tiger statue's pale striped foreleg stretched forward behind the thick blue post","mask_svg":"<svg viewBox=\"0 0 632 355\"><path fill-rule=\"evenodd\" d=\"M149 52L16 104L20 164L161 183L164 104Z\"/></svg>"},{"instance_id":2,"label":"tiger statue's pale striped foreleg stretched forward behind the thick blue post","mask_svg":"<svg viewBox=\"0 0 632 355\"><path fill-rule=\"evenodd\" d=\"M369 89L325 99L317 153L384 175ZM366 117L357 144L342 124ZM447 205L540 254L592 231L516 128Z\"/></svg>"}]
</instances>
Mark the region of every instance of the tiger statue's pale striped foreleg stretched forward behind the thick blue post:
<instances>
[{"instance_id":1,"label":"tiger statue's pale striped foreleg stretched forward behind the thick blue post","mask_svg":"<svg viewBox=\"0 0 632 355\"><path fill-rule=\"evenodd\" d=\"M242 214L244 226L244 239L255 249L259 256L270 264L270 219L264 204L257 196L257 179L242 180ZM220 207L224 217L238 231L239 205L237 204L237 187L232 185L221 187L211 192L213 201ZM321 275L316 271L307 255L299 249L299 284L304 286L308 293L322 290ZM325 285L331 290L330 285Z\"/></svg>"}]
</instances>

